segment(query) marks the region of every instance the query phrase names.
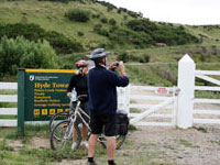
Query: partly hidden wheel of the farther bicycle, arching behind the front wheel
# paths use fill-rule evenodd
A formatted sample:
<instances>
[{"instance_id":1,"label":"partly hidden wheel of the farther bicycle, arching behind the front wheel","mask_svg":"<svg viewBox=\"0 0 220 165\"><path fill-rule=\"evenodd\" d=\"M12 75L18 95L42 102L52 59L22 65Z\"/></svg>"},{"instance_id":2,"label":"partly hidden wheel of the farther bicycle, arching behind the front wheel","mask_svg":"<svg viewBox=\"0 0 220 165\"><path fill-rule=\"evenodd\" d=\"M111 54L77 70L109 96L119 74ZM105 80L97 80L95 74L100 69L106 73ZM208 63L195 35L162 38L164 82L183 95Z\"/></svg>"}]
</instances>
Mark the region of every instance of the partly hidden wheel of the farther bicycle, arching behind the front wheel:
<instances>
[{"instance_id":1,"label":"partly hidden wheel of the farther bicycle, arching behind the front wheel","mask_svg":"<svg viewBox=\"0 0 220 165\"><path fill-rule=\"evenodd\" d=\"M48 124L48 130L50 132L53 131L53 129L55 128L56 123L66 120L69 116L69 112L63 111L63 112L58 112L56 114L54 114L51 120L50 120L50 124Z\"/></svg>"}]
</instances>

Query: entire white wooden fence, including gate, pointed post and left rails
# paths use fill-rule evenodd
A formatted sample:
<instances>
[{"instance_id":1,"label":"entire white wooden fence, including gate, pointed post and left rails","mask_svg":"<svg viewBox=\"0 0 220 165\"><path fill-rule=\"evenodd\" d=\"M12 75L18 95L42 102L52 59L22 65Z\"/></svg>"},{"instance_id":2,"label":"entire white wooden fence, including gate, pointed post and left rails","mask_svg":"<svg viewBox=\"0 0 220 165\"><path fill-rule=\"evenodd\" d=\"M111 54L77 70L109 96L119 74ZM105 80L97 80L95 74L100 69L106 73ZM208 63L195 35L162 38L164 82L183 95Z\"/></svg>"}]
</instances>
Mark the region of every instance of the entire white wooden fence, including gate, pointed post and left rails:
<instances>
[{"instance_id":1,"label":"entire white wooden fence, including gate, pointed post and left rails","mask_svg":"<svg viewBox=\"0 0 220 165\"><path fill-rule=\"evenodd\" d=\"M194 123L220 124L220 99L195 98L195 90L220 91L220 72L196 70L196 64L185 55L178 63L177 87L130 86L118 88L118 106L129 112L135 125L161 125L188 129ZM195 86L195 78L217 86ZM0 90L18 90L16 82L0 82ZM16 102L16 95L0 95L0 102ZM198 108L198 103L217 105L216 109ZM0 116L16 116L16 108L0 108ZM0 119L0 127L15 127L16 120Z\"/></svg>"}]
</instances>

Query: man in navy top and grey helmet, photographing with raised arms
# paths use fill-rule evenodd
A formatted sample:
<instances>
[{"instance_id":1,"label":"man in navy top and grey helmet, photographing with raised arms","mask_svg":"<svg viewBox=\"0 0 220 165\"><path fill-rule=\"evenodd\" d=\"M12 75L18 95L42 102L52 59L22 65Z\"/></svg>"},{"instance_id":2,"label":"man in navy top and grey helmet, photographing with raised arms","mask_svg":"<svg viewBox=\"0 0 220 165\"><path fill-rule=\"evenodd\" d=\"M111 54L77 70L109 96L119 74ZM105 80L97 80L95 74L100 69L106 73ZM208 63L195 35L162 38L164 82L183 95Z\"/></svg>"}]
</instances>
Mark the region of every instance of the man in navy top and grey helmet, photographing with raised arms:
<instances>
[{"instance_id":1,"label":"man in navy top and grey helmet, photographing with raised arms","mask_svg":"<svg viewBox=\"0 0 220 165\"><path fill-rule=\"evenodd\" d=\"M91 135L89 139L88 165L96 165L94 153L96 150L99 134L107 136L107 154L109 165L114 163L116 147L116 113L117 113L117 87L129 85L123 62L114 62L109 69L106 68L107 52L105 48L97 48L90 54L90 59L95 62L96 67L90 69L88 77L89 88L89 111ZM119 66L121 76L113 70Z\"/></svg>"}]
</instances>

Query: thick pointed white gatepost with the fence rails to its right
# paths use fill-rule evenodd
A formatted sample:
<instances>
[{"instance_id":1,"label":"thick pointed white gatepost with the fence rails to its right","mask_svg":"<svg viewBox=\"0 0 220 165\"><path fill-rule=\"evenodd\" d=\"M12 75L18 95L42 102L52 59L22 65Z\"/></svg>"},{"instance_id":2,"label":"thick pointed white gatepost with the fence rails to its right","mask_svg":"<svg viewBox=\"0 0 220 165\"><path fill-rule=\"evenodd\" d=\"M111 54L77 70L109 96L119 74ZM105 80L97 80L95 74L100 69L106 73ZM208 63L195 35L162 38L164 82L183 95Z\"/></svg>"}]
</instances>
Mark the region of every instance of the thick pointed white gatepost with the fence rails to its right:
<instances>
[{"instance_id":1,"label":"thick pointed white gatepost with the fence rails to its right","mask_svg":"<svg viewBox=\"0 0 220 165\"><path fill-rule=\"evenodd\" d=\"M220 91L220 80L211 76L220 76L217 70L196 70L196 64L185 55L178 63L178 111L177 127L187 129L194 123L220 123L220 99L195 98L195 90L202 91ZM210 81L217 86L195 86L195 78L200 78ZM206 106L202 106L206 105ZM215 109L204 109L204 107L213 107ZM197 107L200 106L199 109ZM202 109L201 109L202 108Z\"/></svg>"}]
</instances>

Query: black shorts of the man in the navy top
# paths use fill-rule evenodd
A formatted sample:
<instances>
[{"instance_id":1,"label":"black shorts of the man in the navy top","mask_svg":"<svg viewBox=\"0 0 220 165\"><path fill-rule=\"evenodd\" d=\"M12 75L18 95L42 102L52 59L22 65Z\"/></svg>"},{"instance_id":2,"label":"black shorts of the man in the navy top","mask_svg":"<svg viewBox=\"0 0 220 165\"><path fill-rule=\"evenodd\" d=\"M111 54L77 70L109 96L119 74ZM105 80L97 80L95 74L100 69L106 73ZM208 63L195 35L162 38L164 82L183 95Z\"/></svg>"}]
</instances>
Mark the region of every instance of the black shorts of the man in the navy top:
<instances>
[{"instance_id":1,"label":"black shorts of the man in the navy top","mask_svg":"<svg viewBox=\"0 0 220 165\"><path fill-rule=\"evenodd\" d=\"M117 134L117 116L116 114L96 114L91 116L90 128L92 134L105 133L106 136Z\"/></svg>"}]
</instances>

